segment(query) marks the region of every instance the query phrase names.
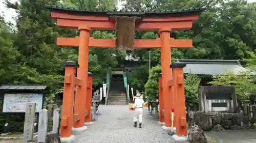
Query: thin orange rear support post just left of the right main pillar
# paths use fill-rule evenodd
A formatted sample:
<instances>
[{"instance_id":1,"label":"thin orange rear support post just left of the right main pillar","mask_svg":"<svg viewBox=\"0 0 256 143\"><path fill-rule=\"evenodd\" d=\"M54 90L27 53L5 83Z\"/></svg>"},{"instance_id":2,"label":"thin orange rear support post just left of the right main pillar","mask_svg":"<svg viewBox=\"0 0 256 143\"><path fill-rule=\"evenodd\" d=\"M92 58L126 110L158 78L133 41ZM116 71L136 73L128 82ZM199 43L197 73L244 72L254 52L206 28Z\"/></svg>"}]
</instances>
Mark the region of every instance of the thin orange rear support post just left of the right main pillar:
<instances>
[{"instance_id":1,"label":"thin orange rear support post just left of the right main pillar","mask_svg":"<svg viewBox=\"0 0 256 143\"><path fill-rule=\"evenodd\" d=\"M159 98L159 122L164 123L164 115L162 114L163 110L163 89L162 89L162 74L159 74L158 77L158 98Z\"/></svg>"}]
</instances>

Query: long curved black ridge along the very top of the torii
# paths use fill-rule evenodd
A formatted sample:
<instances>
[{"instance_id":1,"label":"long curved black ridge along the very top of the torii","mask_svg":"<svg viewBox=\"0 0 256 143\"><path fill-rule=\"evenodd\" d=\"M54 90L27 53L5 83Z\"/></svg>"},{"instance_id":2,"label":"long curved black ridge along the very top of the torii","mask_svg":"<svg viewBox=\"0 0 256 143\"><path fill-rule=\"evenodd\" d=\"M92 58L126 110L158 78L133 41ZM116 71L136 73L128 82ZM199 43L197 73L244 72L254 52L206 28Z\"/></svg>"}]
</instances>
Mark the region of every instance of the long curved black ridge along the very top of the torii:
<instances>
[{"instance_id":1,"label":"long curved black ridge along the very top of the torii","mask_svg":"<svg viewBox=\"0 0 256 143\"><path fill-rule=\"evenodd\" d=\"M127 11L127 10L92 10L92 9L76 9L76 8L65 8L62 6L55 6L55 5L45 5L47 9L55 9L61 11L73 11L73 12L84 12L84 13L95 13L95 14L108 14L108 13L125 13L125 14L166 14L166 13L184 13L184 12L202 12L205 8L188 8L188 9L178 9L178 10L154 10L154 11Z\"/></svg>"}]
</instances>

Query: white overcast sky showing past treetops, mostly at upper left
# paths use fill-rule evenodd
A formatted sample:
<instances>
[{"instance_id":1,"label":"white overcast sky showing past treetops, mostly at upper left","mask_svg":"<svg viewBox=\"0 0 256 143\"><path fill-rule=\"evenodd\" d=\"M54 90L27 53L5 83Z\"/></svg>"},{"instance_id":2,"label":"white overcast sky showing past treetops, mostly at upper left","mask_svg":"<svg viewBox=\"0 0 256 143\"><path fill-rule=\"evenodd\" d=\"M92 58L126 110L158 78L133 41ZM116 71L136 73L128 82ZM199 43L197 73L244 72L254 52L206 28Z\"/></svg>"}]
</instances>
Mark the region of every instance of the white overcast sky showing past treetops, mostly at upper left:
<instances>
[{"instance_id":1,"label":"white overcast sky showing past treetops, mostly at upper left","mask_svg":"<svg viewBox=\"0 0 256 143\"><path fill-rule=\"evenodd\" d=\"M13 3L13 2L16 2L17 0L9 0L9 1ZM5 8L3 2L4 0L0 0L0 12L4 14L6 21L10 21L13 23L14 22L13 17L15 17L17 14L15 13L15 10ZM248 2L256 2L256 0L248 0Z\"/></svg>"}]
</instances>

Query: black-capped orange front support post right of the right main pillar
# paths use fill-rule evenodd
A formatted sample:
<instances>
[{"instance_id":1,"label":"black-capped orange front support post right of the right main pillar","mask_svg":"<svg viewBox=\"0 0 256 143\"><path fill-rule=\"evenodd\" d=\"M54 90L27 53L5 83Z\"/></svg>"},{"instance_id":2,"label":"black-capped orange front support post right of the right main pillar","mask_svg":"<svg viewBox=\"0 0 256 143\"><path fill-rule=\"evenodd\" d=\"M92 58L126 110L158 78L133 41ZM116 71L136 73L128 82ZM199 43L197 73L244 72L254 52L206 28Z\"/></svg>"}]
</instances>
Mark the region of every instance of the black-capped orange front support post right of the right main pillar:
<instances>
[{"instance_id":1,"label":"black-capped orange front support post right of the right main pillar","mask_svg":"<svg viewBox=\"0 0 256 143\"><path fill-rule=\"evenodd\" d=\"M175 96L175 119L176 119L176 135L187 136L186 125L186 108L185 108L185 91L183 68L186 63L174 63L170 65L173 68L173 84Z\"/></svg>"}]
</instances>

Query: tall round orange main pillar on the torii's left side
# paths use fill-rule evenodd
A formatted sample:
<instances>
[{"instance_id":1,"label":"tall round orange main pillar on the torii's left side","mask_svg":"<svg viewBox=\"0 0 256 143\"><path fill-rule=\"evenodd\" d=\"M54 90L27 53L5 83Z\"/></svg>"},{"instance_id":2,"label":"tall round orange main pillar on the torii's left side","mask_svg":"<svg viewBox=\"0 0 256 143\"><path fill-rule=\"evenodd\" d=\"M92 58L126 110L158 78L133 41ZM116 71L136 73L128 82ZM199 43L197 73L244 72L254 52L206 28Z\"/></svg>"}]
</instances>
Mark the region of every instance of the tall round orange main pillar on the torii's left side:
<instances>
[{"instance_id":1,"label":"tall round orange main pillar on the torii's left side","mask_svg":"<svg viewBox=\"0 0 256 143\"><path fill-rule=\"evenodd\" d=\"M89 57L89 37L91 27L81 25L78 27L80 31L79 40L79 53L78 53L78 65L77 78L80 79L80 85L76 85L75 96L75 108L74 115L77 116L77 120L74 121L74 128L84 127L84 109L86 108L87 97L87 84L88 84L88 57ZM76 130L78 131L78 130ZM84 131L84 130L80 130Z\"/></svg>"}]
</instances>

